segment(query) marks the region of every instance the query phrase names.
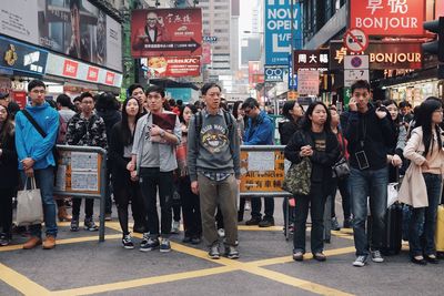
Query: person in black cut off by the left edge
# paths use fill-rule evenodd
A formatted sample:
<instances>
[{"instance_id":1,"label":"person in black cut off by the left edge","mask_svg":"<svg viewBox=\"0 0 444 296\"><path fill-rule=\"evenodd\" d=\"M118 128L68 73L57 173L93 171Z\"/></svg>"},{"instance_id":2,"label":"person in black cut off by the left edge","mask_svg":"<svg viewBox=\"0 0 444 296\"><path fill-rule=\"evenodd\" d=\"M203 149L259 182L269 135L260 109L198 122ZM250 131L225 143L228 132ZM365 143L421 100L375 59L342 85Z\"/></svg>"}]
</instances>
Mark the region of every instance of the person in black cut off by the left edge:
<instances>
[{"instance_id":1,"label":"person in black cut off by the left edge","mask_svg":"<svg viewBox=\"0 0 444 296\"><path fill-rule=\"evenodd\" d=\"M12 197L19 184L19 164L14 124L6 106L0 105L0 246L12 237Z\"/></svg>"}]
</instances>

